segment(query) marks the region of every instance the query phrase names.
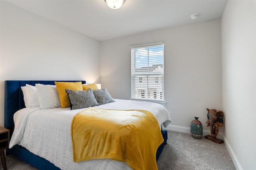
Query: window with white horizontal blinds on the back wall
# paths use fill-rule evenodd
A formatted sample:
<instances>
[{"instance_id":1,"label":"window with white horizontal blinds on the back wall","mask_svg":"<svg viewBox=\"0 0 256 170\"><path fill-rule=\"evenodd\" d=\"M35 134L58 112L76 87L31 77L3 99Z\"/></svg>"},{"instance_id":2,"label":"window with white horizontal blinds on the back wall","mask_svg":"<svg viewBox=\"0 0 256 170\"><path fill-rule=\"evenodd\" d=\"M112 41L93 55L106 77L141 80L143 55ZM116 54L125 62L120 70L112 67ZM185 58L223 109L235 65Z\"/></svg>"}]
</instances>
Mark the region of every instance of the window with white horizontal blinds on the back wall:
<instances>
[{"instance_id":1,"label":"window with white horizontal blinds on the back wall","mask_svg":"<svg viewBox=\"0 0 256 170\"><path fill-rule=\"evenodd\" d=\"M132 100L164 101L164 43L130 49Z\"/></svg>"}]
</instances>

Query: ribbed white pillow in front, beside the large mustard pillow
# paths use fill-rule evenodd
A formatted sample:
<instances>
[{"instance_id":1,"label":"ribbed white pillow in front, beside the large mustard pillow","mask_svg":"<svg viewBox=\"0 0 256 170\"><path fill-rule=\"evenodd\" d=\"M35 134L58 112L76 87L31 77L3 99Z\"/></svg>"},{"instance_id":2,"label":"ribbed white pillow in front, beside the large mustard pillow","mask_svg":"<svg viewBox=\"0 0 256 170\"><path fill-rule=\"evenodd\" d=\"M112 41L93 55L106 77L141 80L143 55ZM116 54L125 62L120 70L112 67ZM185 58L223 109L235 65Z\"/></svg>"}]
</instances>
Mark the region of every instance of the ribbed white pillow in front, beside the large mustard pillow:
<instances>
[{"instance_id":1,"label":"ribbed white pillow in front, beside the large mustard pillow","mask_svg":"<svg viewBox=\"0 0 256 170\"><path fill-rule=\"evenodd\" d=\"M55 85L36 84L41 109L52 109L60 106L60 98Z\"/></svg>"}]
</instances>

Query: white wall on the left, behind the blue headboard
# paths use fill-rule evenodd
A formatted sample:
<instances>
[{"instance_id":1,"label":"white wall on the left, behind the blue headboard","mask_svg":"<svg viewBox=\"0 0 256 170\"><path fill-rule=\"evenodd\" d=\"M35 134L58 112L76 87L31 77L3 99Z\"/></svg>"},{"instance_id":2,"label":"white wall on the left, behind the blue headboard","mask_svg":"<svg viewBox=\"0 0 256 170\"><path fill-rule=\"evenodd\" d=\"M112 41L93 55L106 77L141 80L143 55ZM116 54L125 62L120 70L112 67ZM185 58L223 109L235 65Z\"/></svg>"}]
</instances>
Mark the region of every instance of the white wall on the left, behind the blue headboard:
<instances>
[{"instance_id":1,"label":"white wall on the left, behind the blue headboard","mask_svg":"<svg viewBox=\"0 0 256 170\"><path fill-rule=\"evenodd\" d=\"M100 41L0 1L0 126L4 80L100 82Z\"/></svg>"}]
</instances>

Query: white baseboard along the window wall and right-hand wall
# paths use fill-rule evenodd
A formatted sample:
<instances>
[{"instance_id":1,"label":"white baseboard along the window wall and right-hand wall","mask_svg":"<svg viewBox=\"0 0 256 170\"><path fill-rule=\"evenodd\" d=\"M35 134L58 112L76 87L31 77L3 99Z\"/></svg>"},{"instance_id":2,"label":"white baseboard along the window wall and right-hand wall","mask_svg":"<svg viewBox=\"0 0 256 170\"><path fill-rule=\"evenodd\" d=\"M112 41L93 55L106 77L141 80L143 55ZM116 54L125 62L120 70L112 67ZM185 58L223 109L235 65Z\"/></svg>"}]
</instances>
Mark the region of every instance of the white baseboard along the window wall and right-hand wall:
<instances>
[{"instance_id":1,"label":"white baseboard along the window wall and right-hand wall","mask_svg":"<svg viewBox=\"0 0 256 170\"><path fill-rule=\"evenodd\" d=\"M190 127L182 127L182 126L176 126L176 125L169 125L168 127L163 127L165 130L170 131L177 131L177 132L183 132L183 133L190 133ZM210 135L210 131L203 130L203 136ZM234 151L232 150L231 146L229 145L226 137L223 135L222 132L218 133L218 139L222 139L224 141L224 145L226 149L228 150L228 153L230 154L230 157L232 158L234 165L236 166L237 170L243 170L242 166L240 165Z\"/></svg>"}]
</instances>

